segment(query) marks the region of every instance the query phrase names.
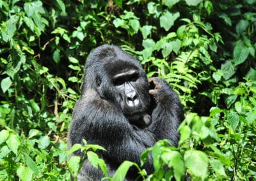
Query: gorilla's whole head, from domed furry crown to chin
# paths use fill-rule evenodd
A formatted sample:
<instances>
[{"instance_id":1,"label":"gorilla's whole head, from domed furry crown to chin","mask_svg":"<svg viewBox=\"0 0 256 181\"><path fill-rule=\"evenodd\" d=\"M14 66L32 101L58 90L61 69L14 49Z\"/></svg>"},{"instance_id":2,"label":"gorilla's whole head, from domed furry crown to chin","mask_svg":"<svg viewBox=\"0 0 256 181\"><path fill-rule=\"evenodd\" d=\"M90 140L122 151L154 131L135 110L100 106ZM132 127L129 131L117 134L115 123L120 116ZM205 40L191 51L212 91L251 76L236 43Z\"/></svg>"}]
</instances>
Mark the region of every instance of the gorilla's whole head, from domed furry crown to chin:
<instances>
[{"instance_id":1,"label":"gorilla's whole head, from domed furry crown to chin","mask_svg":"<svg viewBox=\"0 0 256 181\"><path fill-rule=\"evenodd\" d=\"M114 45L102 45L90 54L84 77L84 89L88 88L113 102L130 122L143 119L150 107L148 80L140 62Z\"/></svg>"}]
</instances>

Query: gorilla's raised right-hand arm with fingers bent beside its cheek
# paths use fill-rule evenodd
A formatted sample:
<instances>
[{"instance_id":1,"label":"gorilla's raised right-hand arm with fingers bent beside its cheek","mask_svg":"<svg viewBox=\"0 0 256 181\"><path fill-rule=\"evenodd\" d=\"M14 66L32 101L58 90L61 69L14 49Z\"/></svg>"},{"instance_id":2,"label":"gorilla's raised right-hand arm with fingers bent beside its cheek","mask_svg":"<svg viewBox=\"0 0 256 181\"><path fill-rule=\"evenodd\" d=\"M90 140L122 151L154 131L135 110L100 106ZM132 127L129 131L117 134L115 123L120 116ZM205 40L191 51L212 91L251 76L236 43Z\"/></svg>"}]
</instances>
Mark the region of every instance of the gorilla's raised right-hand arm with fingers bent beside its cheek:
<instances>
[{"instance_id":1,"label":"gorilla's raised right-hand arm with fingers bent beside its cheek","mask_svg":"<svg viewBox=\"0 0 256 181\"><path fill-rule=\"evenodd\" d=\"M150 83L149 93L156 103L156 108L152 112L150 129L156 135L156 140L168 138L173 146L177 146L179 141L177 128L184 120L179 97L161 78L149 78L148 82Z\"/></svg>"}]
</instances>

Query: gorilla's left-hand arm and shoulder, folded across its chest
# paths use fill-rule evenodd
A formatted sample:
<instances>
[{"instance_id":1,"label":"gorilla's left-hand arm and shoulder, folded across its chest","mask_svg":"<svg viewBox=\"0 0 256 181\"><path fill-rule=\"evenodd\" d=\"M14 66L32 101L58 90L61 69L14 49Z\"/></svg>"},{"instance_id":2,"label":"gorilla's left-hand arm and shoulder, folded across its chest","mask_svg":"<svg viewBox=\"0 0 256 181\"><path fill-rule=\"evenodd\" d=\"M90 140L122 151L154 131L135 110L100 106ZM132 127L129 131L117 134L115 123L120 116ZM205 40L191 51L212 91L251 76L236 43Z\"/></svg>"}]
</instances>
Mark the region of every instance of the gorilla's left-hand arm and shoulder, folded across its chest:
<instances>
[{"instance_id":1,"label":"gorilla's left-hand arm and shoulder, folded across its chest","mask_svg":"<svg viewBox=\"0 0 256 181\"><path fill-rule=\"evenodd\" d=\"M140 163L140 154L155 143L152 131L134 129L121 110L92 90L77 101L68 138L69 145L83 143L83 139L101 145L108 150L102 154L116 164Z\"/></svg>"}]
</instances>

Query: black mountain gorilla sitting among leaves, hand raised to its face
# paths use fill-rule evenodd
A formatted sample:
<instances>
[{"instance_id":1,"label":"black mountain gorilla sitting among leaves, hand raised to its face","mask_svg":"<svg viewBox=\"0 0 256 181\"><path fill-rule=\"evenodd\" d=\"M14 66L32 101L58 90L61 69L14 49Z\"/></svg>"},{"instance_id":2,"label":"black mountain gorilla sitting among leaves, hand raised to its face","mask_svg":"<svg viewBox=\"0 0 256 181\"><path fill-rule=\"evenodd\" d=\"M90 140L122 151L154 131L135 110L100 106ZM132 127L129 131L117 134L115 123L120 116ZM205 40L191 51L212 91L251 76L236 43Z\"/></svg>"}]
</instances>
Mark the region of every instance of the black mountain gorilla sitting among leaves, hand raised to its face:
<instances>
[{"instance_id":1,"label":"black mountain gorilla sitting among leaves, hand raised to its face","mask_svg":"<svg viewBox=\"0 0 256 181\"><path fill-rule=\"evenodd\" d=\"M140 154L156 141L168 139L177 146L177 127L184 119L177 94L160 78L147 79L141 64L114 45L96 48L86 62L81 98L76 103L68 133L68 147L75 143L101 145L99 151L112 177L125 160L140 163ZM83 155L76 152L75 155ZM152 157L144 166L152 173ZM87 159L78 180L100 180L101 170ZM127 180L138 177L131 168Z\"/></svg>"}]
</instances>

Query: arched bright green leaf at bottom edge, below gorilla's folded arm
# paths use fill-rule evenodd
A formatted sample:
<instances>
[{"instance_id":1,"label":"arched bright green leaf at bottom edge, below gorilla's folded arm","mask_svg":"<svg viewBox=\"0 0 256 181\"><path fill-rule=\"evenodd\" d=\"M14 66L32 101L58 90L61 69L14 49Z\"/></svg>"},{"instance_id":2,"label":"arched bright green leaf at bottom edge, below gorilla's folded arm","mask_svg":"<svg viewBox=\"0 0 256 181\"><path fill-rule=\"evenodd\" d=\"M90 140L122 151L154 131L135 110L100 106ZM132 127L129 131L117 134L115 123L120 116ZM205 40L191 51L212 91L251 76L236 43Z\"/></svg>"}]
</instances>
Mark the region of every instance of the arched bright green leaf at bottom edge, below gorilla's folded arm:
<instances>
[{"instance_id":1,"label":"arched bright green leaf at bottom edge, below gorilla's folded arm","mask_svg":"<svg viewBox=\"0 0 256 181\"><path fill-rule=\"evenodd\" d=\"M131 166L135 165L131 161L124 161L116 170L115 174L113 175L113 181L120 181L125 179L125 175Z\"/></svg>"}]
</instances>

